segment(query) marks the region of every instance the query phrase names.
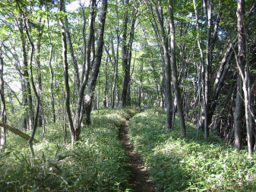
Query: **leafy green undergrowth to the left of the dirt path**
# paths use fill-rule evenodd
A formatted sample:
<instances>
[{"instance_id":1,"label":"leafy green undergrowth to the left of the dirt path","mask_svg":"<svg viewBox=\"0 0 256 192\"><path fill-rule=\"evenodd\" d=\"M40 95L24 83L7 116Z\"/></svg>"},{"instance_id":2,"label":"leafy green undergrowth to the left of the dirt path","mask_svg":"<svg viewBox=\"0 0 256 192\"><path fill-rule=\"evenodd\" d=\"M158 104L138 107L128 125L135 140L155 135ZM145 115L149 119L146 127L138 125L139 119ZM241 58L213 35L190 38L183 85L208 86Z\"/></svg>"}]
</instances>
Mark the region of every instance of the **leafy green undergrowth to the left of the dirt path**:
<instances>
[{"instance_id":1,"label":"leafy green undergrowth to the left of the dirt path","mask_svg":"<svg viewBox=\"0 0 256 192\"><path fill-rule=\"evenodd\" d=\"M128 190L128 157L119 142L118 128L137 112L93 112L92 124L82 127L81 140L73 147L64 142L60 124L47 126L44 136L39 128L36 159L30 157L27 142L9 132L8 146L0 154L0 191Z\"/></svg>"}]
</instances>

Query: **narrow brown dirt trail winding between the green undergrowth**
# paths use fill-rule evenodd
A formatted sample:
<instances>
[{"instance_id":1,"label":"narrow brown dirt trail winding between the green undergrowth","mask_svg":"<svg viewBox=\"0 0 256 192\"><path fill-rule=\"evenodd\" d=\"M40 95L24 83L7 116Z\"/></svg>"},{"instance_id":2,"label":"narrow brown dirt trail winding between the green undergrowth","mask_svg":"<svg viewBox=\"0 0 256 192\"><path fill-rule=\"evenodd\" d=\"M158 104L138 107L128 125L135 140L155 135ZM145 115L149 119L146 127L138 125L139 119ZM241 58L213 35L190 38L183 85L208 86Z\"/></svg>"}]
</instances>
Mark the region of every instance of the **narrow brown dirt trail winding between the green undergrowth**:
<instances>
[{"instance_id":1,"label":"narrow brown dirt trail winding between the green undergrowth","mask_svg":"<svg viewBox=\"0 0 256 192\"><path fill-rule=\"evenodd\" d=\"M144 162L141 157L134 150L134 147L129 142L128 136L128 122L125 121L124 124L119 128L119 139L122 145L125 147L127 155L130 158L130 168L131 168L131 189L134 192L153 192L156 191L156 186L153 181L150 181L150 175L147 172L147 168L144 167Z\"/></svg>"}]
</instances>

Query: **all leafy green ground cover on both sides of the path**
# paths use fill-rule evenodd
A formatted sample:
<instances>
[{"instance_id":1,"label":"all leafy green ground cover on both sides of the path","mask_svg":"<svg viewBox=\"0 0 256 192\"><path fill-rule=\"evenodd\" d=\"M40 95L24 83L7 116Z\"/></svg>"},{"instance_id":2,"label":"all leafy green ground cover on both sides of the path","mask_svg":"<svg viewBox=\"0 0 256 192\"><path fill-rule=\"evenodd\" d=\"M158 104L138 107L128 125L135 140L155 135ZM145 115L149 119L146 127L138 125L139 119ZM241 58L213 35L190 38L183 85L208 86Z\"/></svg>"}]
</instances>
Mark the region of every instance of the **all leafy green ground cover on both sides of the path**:
<instances>
[{"instance_id":1,"label":"all leafy green ground cover on both sides of the path","mask_svg":"<svg viewBox=\"0 0 256 192\"><path fill-rule=\"evenodd\" d=\"M119 142L119 126L131 118L129 134L135 150L159 191L254 191L256 156L247 159L224 140L197 137L187 123L181 139L179 120L165 129L165 112L150 109L102 109L93 112L92 124L82 128L81 140L71 147L60 124L36 132L36 159L27 142L9 132L8 146L0 154L0 191L129 191L128 157ZM68 139L70 138L68 134Z\"/></svg>"}]
</instances>

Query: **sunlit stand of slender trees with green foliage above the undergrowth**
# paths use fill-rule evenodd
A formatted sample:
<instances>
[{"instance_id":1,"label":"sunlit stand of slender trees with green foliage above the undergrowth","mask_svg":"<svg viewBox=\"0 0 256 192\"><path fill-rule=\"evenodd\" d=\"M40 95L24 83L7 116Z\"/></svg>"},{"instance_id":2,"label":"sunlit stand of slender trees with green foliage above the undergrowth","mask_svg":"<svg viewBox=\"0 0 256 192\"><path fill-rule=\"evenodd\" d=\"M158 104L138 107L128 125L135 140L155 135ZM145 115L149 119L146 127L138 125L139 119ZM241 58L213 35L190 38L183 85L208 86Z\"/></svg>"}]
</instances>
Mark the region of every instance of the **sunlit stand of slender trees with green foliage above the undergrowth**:
<instances>
[{"instance_id":1,"label":"sunlit stand of slender trees with green foliage above the undergrowth","mask_svg":"<svg viewBox=\"0 0 256 192\"><path fill-rule=\"evenodd\" d=\"M164 127L171 131L178 121L181 138L188 137L192 122L198 137L204 131L209 140L212 132L237 151L246 146L251 158L255 5L254 0L0 2L1 148L12 131L28 141L35 157L34 137L52 127L62 129L65 143L74 146L93 110L136 105L164 109Z\"/></svg>"}]
</instances>

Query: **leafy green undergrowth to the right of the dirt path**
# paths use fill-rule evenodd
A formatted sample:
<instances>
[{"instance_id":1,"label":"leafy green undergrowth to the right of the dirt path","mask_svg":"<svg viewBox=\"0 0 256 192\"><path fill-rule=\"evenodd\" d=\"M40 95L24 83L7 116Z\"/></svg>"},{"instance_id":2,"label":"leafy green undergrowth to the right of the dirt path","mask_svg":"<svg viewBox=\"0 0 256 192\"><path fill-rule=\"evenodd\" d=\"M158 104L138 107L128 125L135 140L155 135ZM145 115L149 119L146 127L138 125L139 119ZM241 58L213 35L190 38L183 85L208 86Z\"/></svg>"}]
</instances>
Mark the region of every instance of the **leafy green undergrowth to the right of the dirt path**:
<instances>
[{"instance_id":1,"label":"leafy green undergrowth to the right of the dirt path","mask_svg":"<svg viewBox=\"0 0 256 192\"><path fill-rule=\"evenodd\" d=\"M247 159L214 135L204 140L193 124L181 139L179 120L166 131L166 115L150 109L131 118L129 134L159 191L254 191L256 156Z\"/></svg>"}]
</instances>

